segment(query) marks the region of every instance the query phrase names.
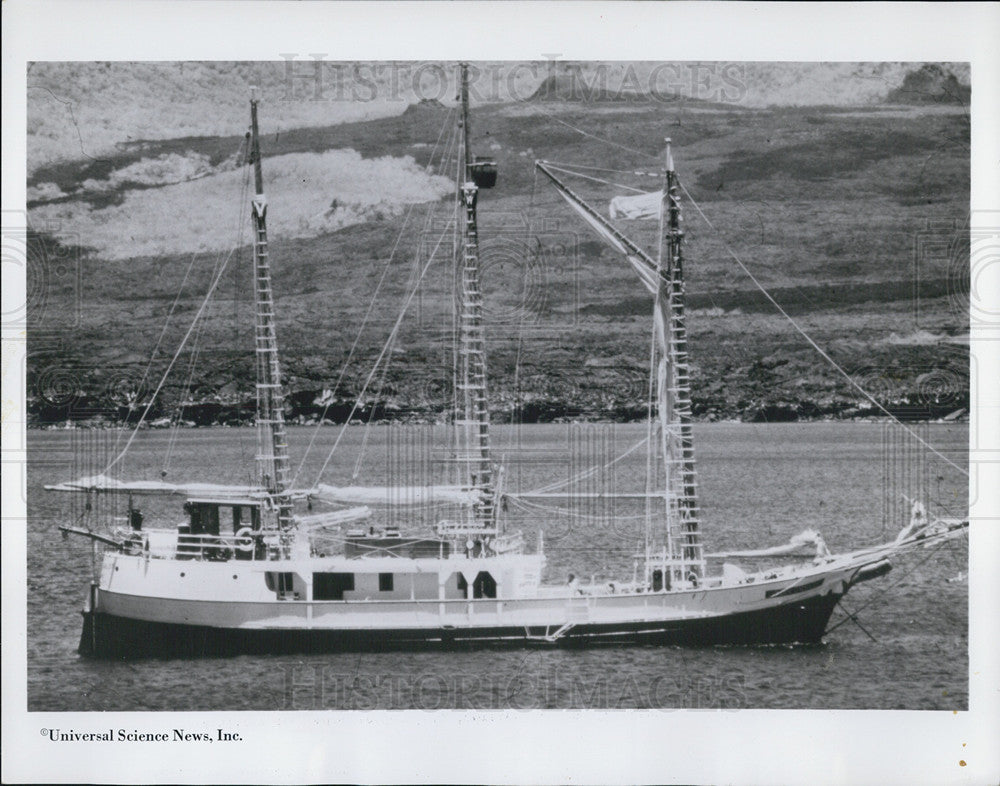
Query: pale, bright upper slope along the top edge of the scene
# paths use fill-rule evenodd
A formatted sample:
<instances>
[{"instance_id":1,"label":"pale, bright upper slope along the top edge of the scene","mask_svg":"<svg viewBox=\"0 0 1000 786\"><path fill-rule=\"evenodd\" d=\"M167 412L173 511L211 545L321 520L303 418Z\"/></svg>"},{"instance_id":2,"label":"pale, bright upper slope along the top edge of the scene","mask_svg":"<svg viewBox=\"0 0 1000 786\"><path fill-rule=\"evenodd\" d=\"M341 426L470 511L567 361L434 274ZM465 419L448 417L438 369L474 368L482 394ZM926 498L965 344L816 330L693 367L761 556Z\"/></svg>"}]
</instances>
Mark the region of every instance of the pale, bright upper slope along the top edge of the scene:
<instances>
[{"instance_id":1,"label":"pale, bright upper slope along the top edge of the scene","mask_svg":"<svg viewBox=\"0 0 1000 786\"><path fill-rule=\"evenodd\" d=\"M454 68L434 62L341 63L307 55L264 62L36 62L27 82L28 172L56 162L99 160L145 140L242 136L250 85L276 107L272 132L401 114L420 99L452 104ZM518 103L550 78L574 78L580 92L653 91L661 100L725 96L746 107L872 106L903 90L902 103L940 102L927 83L967 85L967 64L477 62L473 105ZM945 85L948 86L948 85ZM915 90L912 88L916 88ZM817 96L822 96L818 99ZM953 97L944 97L953 100Z\"/></svg>"}]
</instances>

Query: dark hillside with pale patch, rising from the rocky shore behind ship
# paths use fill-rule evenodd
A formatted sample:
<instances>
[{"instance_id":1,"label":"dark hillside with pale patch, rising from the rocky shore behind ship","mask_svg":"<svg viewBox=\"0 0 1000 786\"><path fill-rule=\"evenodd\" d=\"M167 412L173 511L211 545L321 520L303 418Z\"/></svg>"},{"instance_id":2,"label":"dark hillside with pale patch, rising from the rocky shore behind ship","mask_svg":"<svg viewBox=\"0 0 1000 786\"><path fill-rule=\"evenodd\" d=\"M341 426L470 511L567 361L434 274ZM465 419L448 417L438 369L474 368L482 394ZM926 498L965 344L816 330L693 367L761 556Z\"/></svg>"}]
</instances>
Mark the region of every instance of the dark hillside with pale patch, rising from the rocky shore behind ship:
<instances>
[{"instance_id":1,"label":"dark hillside with pale patch, rising from the rocky shore behind ship","mask_svg":"<svg viewBox=\"0 0 1000 786\"><path fill-rule=\"evenodd\" d=\"M531 86L534 100L480 103L476 149L500 167L498 187L480 202L495 416L643 416L649 300L620 259L536 182L533 161L655 168L666 135L682 180L719 230L710 231L685 200L698 417L871 413L775 313L726 244L834 360L897 413L939 417L967 407L968 246L961 230L968 117L947 95L906 100L907 86L928 94L934 83L926 73L883 70L892 79L880 75L881 99L859 88L853 95L856 103L864 98L860 106L835 105L850 91L818 90L824 82L816 69L777 81L795 96L812 73L810 94L823 106L666 102L642 94L600 100L608 94L566 94L565 75L552 82L544 74ZM912 73L918 77L908 78ZM773 90L771 76L748 81L747 95ZM847 72L841 79L868 89L873 77ZM943 79L942 95L954 92ZM227 257L246 231L239 200L245 107L220 100L217 113L227 119L208 133L204 103L218 89L191 91L191 110L178 121L186 130L113 145L99 160L51 155L39 142L44 154L28 184L34 422L116 419L128 415L130 403L144 402L213 269L227 258L231 267L197 335L198 354L178 358L151 417L173 414L180 400L187 402L182 418L197 423L242 422L252 411L250 291L239 275L248 255L244 248ZM893 90L902 92L890 96ZM308 420L325 411L337 420L382 349L416 252L437 236L433 224L422 229L424 216L447 207L450 187L426 166L450 103L425 101L367 120L347 113L325 125L282 110L273 118L265 102L262 123L289 415ZM604 205L606 188L573 185ZM655 246L655 228L633 222L628 229ZM383 273L379 305L358 336ZM437 419L447 411L449 275L446 265L430 269L392 363L356 417Z\"/></svg>"}]
</instances>

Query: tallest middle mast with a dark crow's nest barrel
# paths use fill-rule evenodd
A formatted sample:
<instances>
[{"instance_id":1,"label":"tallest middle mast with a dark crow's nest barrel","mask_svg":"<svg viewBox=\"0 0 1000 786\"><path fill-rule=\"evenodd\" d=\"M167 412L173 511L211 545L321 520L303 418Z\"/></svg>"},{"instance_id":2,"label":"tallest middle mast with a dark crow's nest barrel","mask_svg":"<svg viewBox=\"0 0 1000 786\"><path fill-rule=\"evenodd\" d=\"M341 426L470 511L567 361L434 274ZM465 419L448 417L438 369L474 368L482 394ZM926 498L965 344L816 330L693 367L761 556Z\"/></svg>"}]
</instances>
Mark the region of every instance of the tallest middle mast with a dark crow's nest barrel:
<instances>
[{"instance_id":1,"label":"tallest middle mast with a dark crow's nest barrel","mask_svg":"<svg viewBox=\"0 0 1000 786\"><path fill-rule=\"evenodd\" d=\"M458 266L458 390L456 391L460 465L467 469L464 482L480 492L481 501L472 509L472 525L495 530L495 483L490 455L490 412L486 389L486 341L483 327L483 296L480 286L479 230L476 202L479 187L488 184L482 178L469 145L469 74L468 66L459 66L462 103L462 173L458 183L459 208L464 212L462 246ZM495 179L494 168L492 176Z\"/></svg>"}]
</instances>

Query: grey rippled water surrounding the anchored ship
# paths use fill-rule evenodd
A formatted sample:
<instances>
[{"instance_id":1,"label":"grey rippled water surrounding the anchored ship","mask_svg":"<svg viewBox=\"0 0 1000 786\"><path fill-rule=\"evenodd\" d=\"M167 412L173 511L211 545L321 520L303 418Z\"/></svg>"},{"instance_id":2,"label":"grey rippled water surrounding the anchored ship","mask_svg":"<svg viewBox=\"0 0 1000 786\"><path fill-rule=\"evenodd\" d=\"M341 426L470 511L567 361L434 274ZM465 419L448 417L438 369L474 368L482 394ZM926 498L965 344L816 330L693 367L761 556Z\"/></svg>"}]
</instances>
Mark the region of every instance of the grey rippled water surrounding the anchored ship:
<instances>
[{"instance_id":1,"label":"grey rippled water surrounding the anchored ship","mask_svg":"<svg viewBox=\"0 0 1000 786\"><path fill-rule=\"evenodd\" d=\"M965 465L965 425L914 428ZM324 428L298 483L316 480L338 429ZM604 464L641 439L640 425L545 425L497 429L508 488L528 490ZM292 467L313 438L292 429ZM127 436L127 435L126 435ZM942 513L964 513L965 478L928 456L898 427L873 423L697 426L700 493L708 549L784 543L811 527L834 550L893 537L905 523L900 495L921 489ZM965 709L968 705L967 541L897 558L887 577L845 599L864 630L845 622L816 647L545 648L309 657L243 656L130 663L81 658L76 647L91 576L90 547L64 540L60 523L82 514L68 495L42 486L99 471L113 455L113 431L28 436L28 706L31 710L270 710L403 708L881 708ZM426 482L446 454L441 428L349 429L323 478ZM251 429L194 429L173 437L142 432L129 451L131 478L245 482L255 450ZM569 456L574 458L570 460ZM642 489L639 449L585 478L580 488ZM607 500L552 510L511 509L529 543L545 530L546 578L630 577L643 508ZM147 521L176 519L180 500L143 501ZM159 509L158 509L159 508ZM419 514L432 524L436 515ZM396 523L403 523L397 520ZM844 620L835 611L832 625ZM867 631L867 632L865 632ZM870 635L869 635L870 634Z\"/></svg>"}]
</instances>

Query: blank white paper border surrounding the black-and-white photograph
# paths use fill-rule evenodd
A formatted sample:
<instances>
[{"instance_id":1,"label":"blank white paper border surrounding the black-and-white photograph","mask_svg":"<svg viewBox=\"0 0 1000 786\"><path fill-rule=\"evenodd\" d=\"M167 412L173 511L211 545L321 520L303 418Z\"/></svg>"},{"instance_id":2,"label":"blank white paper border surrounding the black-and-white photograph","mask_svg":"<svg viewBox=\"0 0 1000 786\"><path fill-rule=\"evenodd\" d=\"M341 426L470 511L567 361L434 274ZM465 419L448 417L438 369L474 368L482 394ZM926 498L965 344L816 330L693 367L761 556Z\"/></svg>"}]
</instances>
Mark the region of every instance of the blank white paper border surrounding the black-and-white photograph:
<instances>
[{"instance_id":1,"label":"blank white paper border surrounding the black-and-white photograph","mask_svg":"<svg viewBox=\"0 0 1000 786\"><path fill-rule=\"evenodd\" d=\"M338 61L539 60L558 53L560 60L970 62L973 220L976 211L1000 209L996 4L6 0L3 23L4 210L25 204L28 61L278 60L282 52L326 52ZM988 270L973 271L980 285L1000 282L1000 260L987 262ZM1000 296L990 297L995 313ZM11 471L24 456L23 417L18 422L11 415L12 407L23 407L24 342L5 332L2 780L996 782L1000 337L994 332L989 338L974 333L972 343L971 428L979 449L971 456L978 488L970 545L968 712L88 714L25 709L23 475ZM201 727L239 731L245 744L225 756L218 746L203 752L194 745L64 743L57 749L39 734L47 726L169 729L193 723L194 716Z\"/></svg>"}]
</instances>

